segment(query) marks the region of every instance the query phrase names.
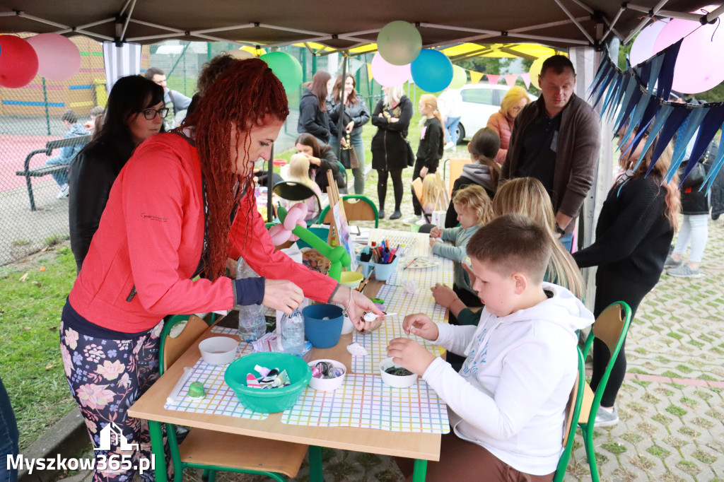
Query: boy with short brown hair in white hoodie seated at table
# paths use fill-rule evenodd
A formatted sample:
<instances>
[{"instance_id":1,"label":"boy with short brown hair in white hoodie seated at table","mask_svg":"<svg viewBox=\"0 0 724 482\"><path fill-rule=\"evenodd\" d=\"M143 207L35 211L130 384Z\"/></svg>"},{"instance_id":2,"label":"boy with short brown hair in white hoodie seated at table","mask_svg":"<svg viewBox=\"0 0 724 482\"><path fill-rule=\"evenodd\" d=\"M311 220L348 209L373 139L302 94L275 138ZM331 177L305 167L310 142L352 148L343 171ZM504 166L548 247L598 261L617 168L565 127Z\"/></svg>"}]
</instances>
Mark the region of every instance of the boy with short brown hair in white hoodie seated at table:
<instances>
[{"instance_id":1,"label":"boy with short brown hair in white hoodie seated at table","mask_svg":"<svg viewBox=\"0 0 724 482\"><path fill-rule=\"evenodd\" d=\"M467 248L473 288L485 304L479 325L405 317L406 333L467 357L459 373L413 339L387 347L449 408L453 433L442 436L440 460L429 463L426 480L552 481L576 380L576 330L594 317L568 289L543 282L551 242L526 216L494 219ZM411 462L398 465L411 475Z\"/></svg>"}]
</instances>

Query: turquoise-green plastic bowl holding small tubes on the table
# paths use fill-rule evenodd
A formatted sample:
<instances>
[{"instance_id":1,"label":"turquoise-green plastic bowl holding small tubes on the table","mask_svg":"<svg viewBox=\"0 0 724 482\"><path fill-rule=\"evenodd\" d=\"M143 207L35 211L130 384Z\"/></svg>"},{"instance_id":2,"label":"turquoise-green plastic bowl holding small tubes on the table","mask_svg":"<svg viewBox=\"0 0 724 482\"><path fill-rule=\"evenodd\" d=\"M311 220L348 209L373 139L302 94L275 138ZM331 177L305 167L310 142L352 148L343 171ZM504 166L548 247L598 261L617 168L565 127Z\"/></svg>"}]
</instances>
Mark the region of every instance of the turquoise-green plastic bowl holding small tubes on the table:
<instances>
[{"instance_id":1,"label":"turquoise-green plastic bowl holding small tubes on the table","mask_svg":"<svg viewBox=\"0 0 724 482\"><path fill-rule=\"evenodd\" d=\"M290 385L276 389L258 389L246 386L248 373L258 376L254 366L286 370ZM299 399L302 390L312 379L307 363L295 355L277 352L261 352L246 355L232 362L224 372L224 381L236 394L241 405L255 412L283 412Z\"/></svg>"}]
</instances>

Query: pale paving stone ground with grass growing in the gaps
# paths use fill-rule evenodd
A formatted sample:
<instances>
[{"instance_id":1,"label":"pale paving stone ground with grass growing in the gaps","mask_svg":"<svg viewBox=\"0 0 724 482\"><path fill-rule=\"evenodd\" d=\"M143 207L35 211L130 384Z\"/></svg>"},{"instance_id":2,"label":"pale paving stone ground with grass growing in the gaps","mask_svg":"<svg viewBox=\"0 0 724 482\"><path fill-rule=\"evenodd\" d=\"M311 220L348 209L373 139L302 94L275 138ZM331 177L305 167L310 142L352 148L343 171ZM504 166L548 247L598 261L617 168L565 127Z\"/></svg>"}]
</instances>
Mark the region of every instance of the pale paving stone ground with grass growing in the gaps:
<instances>
[{"instance_id":1,"label":"pale paving stone ground with grass growing in the gaps","mask_svg":"<svg viewBox=\"0 0 724 482\"><path fill-rule=\"evenodd\" d=\"M463 156L464 146L458 146ZM403 219L412 214L405 169ZM377 201L376 173L365 193ZM351 179L350 179L351 182ZM392 188L386 211L392 213ZM628 375L618 396L620 423L597 429L602 481L724 482L724 219L710 221L698 279L662 275L639 307L626 342ZM380 227L403 228L400 220ZM405 228L406 229L406 228ZM390 457L323 449L324 480L398 482ZM184 481L201 481L186 470ZM219 473L220 482L268 480ZM305 465L293 481L308 481ZM451 474L450 481L454 481ZM580 432L566 481L590 481Z\"/></svg>"}]
</instances>

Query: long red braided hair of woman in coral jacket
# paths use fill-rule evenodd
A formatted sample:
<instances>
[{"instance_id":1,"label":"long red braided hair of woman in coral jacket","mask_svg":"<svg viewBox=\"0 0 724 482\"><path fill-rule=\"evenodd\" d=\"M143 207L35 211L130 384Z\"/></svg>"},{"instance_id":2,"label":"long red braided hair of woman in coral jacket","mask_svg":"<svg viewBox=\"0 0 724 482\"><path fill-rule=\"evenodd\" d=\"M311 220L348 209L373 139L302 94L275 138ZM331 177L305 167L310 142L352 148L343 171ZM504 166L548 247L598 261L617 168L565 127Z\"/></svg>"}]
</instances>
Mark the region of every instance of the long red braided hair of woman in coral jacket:
<instances>
[{"instance_id":1,"label":"long red braided hair of woman in coral jacket","mask_svg":"<svg viewBox=\"0 0 724 482\"><path fill-rule=\"evenodd\" d=\"M237 148L230 145L232 129L236 131L243 155L248 158L251 148L248 130L268 124L270 118L284 122L288 115L287 94L277 76L263 60L245 59L231 62L216 77L196 110L182 124L195 129L205 182L209 255L205 274L209 279L224 275L235 206L239 208L237 216L256 209L252 195L253 169L244 177L234 173L239 154ZM249 231L245 229L243 235L248 237Z\"/></svg>"}]
</instances>

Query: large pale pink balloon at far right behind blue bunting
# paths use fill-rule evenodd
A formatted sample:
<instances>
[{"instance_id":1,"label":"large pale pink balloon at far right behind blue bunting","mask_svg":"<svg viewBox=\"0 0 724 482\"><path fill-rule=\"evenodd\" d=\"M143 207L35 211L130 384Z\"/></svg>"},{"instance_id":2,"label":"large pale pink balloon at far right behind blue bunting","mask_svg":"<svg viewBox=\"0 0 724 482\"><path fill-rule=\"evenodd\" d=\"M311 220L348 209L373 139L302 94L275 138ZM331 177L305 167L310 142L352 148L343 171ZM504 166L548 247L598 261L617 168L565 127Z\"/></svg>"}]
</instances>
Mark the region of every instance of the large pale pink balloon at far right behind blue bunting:
<instances>
[{"instance_id":1,"label":"large pale pink balloon at far right behind blue bunting","mask_svg":"<svg viewBox=\"0 0 724 482\"><path fill-rule=\"evenodd\" d=\"M671 20L662 28L654 42L654 51L683 38L674 67L673 90L699 93L716 87L724 80L724 63L717 62L724 50L722 30L717 30L715 24L702 26L699 22L680 19Z\"/></svg>"}]
</instances>

